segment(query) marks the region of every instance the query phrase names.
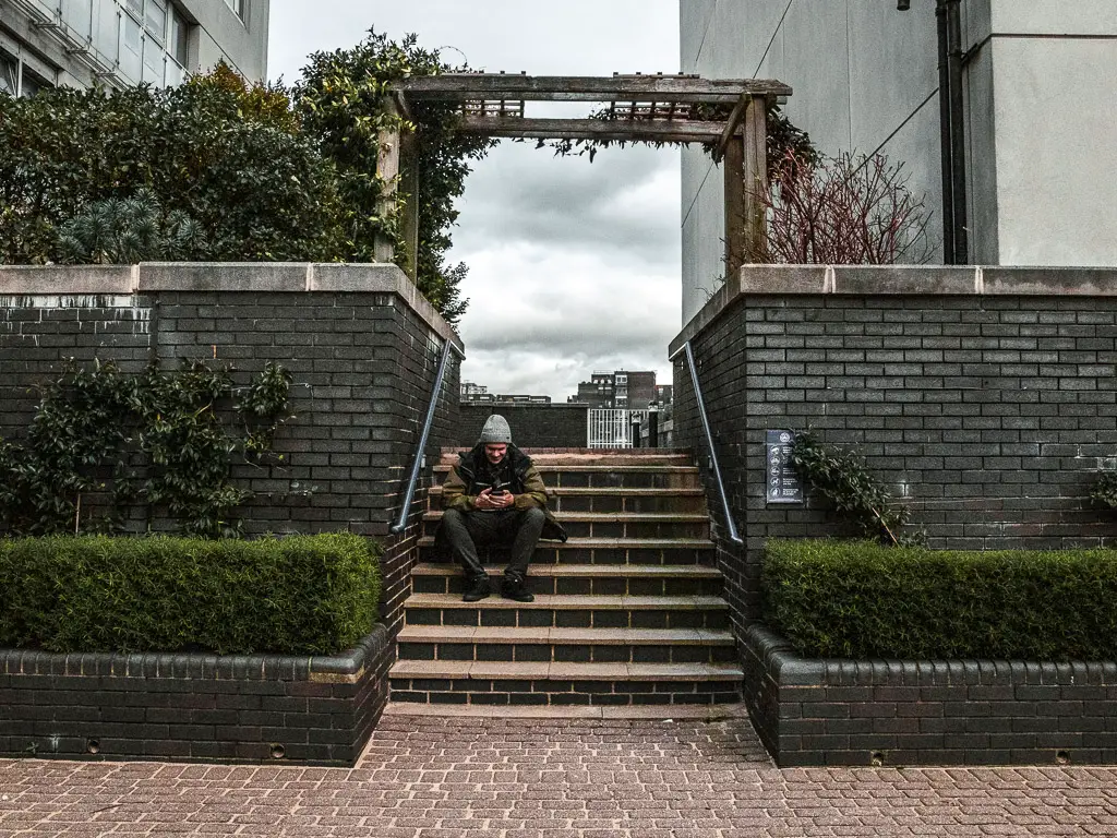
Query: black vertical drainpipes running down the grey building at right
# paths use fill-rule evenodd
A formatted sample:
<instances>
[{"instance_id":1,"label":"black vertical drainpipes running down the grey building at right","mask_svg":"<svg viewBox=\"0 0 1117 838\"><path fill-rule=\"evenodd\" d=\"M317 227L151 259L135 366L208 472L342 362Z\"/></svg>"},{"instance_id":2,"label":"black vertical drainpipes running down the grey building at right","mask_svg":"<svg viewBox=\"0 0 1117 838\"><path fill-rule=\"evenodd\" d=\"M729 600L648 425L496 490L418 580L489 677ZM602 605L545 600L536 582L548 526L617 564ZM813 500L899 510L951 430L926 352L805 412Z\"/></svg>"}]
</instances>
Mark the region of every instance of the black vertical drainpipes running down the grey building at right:
<instances>
[{"instance_id":1,"label":"black vertical drainpipes running down the grey building at right","mask_svg":"<svg viewBox=\"0 0 1117 838\"><path fill-rule=\"evenodd\" d=\"M937 0L938 118L943 168L943 261L970 261L966 219L966 147L962 93L962 0ZM897 0L899 11L910 0Z\"/></svg>"}]
</instances>

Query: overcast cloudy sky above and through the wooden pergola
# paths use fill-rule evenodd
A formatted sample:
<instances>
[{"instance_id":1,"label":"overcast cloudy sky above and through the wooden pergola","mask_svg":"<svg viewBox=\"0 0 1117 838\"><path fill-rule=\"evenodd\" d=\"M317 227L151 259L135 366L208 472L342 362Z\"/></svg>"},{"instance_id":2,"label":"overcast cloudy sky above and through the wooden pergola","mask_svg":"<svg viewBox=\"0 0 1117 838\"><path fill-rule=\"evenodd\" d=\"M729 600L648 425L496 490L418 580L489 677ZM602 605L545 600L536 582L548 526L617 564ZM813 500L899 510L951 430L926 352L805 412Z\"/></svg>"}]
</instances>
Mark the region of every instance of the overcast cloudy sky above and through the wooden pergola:
<instances>
[{"instance_id":1,"label":"overcast cloudy sky above and through the wooden pergola","mask_svg":"<svg viewBox=\"0 0 1117 838\"><path fill-rule=\"evenodd\" d=\"M678 16L677 0L273 0L268 75L294 82L307 55L353 46L370 27L414 32L445 60L488 72L677 73ZM450 259L469 266L462 381L556 401L593 370L657 370L670 383L677 149L605 149L590 163L504 141L459 207Z\"/></svg>"}]
</instances>

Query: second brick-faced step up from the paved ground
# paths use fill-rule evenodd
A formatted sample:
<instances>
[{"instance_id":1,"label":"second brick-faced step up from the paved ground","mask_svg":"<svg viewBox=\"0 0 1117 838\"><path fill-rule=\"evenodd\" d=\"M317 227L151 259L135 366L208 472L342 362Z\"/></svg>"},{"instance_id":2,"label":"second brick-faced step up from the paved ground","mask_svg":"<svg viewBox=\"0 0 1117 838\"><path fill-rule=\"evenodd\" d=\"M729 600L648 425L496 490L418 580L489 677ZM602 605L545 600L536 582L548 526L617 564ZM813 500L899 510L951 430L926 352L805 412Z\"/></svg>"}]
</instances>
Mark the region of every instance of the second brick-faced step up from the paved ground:
<instances>
[{"instance_id":1,"label":"second brick-faced step up from the paved ground","mask_svg":"<svg viewBox=\"0 0 1117 838\"><path fill-rule=\"evenodd\" d=\"M404 626L401 660L515 660L596 664L736 661L728 631Z\"/></svg>"}]
</instances>

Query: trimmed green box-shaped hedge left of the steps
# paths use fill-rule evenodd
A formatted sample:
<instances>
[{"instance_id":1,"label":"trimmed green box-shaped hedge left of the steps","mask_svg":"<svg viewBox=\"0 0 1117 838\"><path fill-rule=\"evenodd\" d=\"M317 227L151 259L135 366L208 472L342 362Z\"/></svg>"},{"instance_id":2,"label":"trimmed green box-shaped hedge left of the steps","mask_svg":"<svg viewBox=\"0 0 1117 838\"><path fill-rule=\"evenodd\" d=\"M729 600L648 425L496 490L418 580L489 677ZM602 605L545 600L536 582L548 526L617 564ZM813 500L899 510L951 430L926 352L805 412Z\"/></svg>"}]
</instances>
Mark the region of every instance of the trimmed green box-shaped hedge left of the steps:
<instances>
[{"instance_id":1,"label":"trimmed green box-shaped hedge left of the steps","mask_svg":"<svg viewBox=\"0 0 1117 838\"><path fill-rule=\"evenodd\" d=\"M376 621L379 559L349 533L0 540L0 646L333 654Z\"/></svg>"}]
</instances>

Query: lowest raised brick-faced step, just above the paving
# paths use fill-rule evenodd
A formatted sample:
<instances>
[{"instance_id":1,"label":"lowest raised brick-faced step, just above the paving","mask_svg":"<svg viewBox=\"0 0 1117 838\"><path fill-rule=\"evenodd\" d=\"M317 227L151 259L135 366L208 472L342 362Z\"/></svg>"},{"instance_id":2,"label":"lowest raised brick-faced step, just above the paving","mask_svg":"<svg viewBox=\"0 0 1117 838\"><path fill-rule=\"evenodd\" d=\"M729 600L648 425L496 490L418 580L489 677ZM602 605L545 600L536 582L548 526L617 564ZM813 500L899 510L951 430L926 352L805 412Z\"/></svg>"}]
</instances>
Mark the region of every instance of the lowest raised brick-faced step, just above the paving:
<instances>
[{"instance_id":1,"label":"lowest raised brick-faced step, just above the paving","mask_svg":"<svg viewBox=\"0 0 1117 838\"><path fill-rule=\"evenodd\" d=\"M741 701L735 664L570 664L398 660L393 702L421 704L634 705Z\"/></svg>"}]
</instances>

